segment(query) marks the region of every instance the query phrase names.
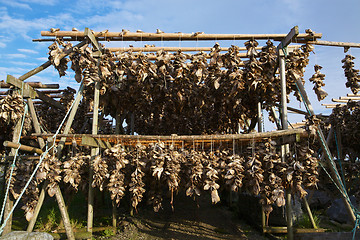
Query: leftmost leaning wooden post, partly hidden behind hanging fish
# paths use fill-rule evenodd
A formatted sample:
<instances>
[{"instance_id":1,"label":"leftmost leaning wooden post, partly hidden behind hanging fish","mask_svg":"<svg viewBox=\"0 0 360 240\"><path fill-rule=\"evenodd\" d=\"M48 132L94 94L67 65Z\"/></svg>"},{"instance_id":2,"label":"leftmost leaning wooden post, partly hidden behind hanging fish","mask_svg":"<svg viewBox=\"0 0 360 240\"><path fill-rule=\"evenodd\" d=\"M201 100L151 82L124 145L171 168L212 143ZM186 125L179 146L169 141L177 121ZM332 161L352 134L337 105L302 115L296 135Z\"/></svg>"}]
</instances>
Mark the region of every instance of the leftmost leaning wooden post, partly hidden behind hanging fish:
<instances>
[{"instance_id":1,"label":"leftmost leaning wooden post, partly hidden behind hanging fish","mask_svg":"<svg viewBox=\"0 0 360 240\"><path fill-rule=\"evenodd\" d=\"M21 134L21 121L22 119L19 119L15 125L14 131L13 131L13 136L12 136L12 141L18 143L19 142L19 136ZM15 156L16 153L16 149L12 148L11 152L10 152L10 156ZM8 169L9 171L10 169ZM14 201L10 198L10 192L7 196L6 199L6 203L5 203L5 209L4 209L4 219L6 219L10 212L11 209L14 206ZM12 214L9 217L9 220L7 221L5 227L4 227L4 231L3 231L3 236L8 234L9 232L11 232L11 227L12 227Z\"/></svg>"}]
</instances>

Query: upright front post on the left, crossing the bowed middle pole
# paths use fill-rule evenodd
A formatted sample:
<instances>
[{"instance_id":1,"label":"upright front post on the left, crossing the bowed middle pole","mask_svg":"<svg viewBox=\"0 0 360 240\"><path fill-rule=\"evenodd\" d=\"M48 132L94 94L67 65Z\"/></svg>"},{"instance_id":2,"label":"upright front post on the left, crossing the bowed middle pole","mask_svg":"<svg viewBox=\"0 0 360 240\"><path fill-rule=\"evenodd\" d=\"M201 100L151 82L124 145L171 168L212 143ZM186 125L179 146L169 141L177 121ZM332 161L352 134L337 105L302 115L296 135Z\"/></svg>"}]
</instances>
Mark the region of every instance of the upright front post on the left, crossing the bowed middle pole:
<instances>
[{"instance_id":1,"label":"upright front post on the left, crossing the bowed middle pole","mask_svg":"<svg viewBox=\"0 0 360 240\"><path fill-rule=\"evenodd\" d=\"M93 123L92 134L98 133L98 118L99 118L99 95L100 95L100 82L95 83L94 90L94 109L93 109ZM99 154L99 148L94 147L91 149L90 169L89 169L89 193L88 193L88 217L87 217L87 231L92 234L93 218L94 218L94 189L92 187L93 181L93 160Z\"/></svg>"}]
</instances>

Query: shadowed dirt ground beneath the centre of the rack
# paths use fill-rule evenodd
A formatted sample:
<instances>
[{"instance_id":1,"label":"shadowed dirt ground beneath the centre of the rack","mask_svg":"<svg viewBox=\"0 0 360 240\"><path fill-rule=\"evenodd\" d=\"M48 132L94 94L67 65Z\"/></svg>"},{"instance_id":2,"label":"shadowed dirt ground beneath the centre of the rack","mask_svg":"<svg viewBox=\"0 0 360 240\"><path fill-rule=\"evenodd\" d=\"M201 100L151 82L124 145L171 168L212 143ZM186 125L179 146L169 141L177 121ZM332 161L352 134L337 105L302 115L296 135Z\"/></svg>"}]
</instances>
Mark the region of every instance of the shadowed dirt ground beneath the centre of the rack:
<instances>
[{"instance_id":1,"label":"shadowed dirt ground beneath the centre of the rack","mask_svg":"<svg viewBox=\"0 0 360 240\"><path fill-rule=\"evenodd\" d=\"M164 200L166 201L166 200ZM200 207L197 207L199 204ZM249 239L265 240L258 230L249 226L229 207L212 205L202 197L198 202L188 197L175 199L174 212L168 203L160 212L152 208L140 208L133 217L120 217L118 232L101 239Z\"/></svg>"}]
</instances>

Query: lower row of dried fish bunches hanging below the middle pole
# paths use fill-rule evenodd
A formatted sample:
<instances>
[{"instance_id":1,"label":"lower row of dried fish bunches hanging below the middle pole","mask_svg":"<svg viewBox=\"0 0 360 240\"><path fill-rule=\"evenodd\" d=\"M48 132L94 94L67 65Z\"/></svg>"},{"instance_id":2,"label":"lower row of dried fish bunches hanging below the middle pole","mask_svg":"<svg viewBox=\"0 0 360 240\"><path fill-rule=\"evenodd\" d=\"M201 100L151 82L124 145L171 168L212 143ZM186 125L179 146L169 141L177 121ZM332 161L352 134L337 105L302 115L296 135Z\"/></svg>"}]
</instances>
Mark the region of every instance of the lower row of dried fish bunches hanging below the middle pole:
<instances>
[{"instance_id":1,"label":"lower row of dried fish bunches hanging below the middle pole","mask_svg":"<svg viewBox=\"0 0 360 240\"><path fill-rule=\"evenodd\" d=\"M281 161L279 147L271 139L253 144L244 152L228 149L186 150L163 142L147 146L136 144L125 148L118 144L105 150L92 161L92 186L100 191L108 190L119 205L128 193L131 206L137 210L146 197L154 211L162 208L166 198L165 186L170 193L170 204L174 205L174 194L184 191L196 198L209 192L212 203L220 201L220 191L246 191L260 197L265 212L270 214L272 206L285 204L285 189L303 197L304 188L317 183L317 159L307 144L296 144L295 149ZM26 214L31 217L36 205L37 185L46 180L50 196L61 182L74 190L85 190L88 185L89 155L79 152L60 161L53 156L44 159L32 186L25 196ZM17 166L11 185L16 198L35 162L26 161ZM28 202L27 202L28 201Z\"/></svg>"}]
</instances>

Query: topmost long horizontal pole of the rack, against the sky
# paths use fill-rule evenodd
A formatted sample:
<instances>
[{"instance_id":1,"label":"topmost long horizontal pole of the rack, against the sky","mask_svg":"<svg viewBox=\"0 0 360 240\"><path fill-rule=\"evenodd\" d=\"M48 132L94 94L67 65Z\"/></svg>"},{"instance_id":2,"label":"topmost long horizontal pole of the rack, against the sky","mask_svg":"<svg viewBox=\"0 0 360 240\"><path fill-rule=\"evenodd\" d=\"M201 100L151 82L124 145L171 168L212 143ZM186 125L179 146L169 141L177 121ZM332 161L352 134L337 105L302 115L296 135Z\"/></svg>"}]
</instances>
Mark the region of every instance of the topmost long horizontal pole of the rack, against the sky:
<instances>
[{"instance_id":1,"label":"topmost long horizontal pole of the rack, against the sky","mask_svg":"<svg viewBox=\"0 0 360 240\"><path fill-rule=\"evenodd\" d=\"M145 33L145 32L93 32L98 41L199 41L199 40L283 40L287 34L206 34L206 33ZM41 36L46 37L73 37L83 38L84 32L80 31L41 31ZM299 34L297 39L313 40L321 38L321 33Z\"/></svg>"}]
</instances>

